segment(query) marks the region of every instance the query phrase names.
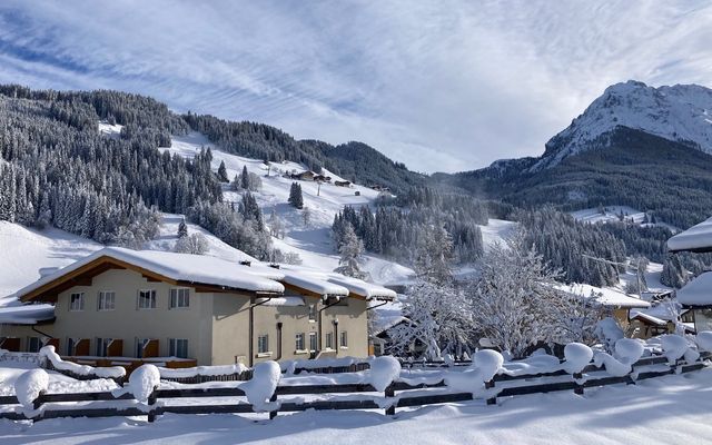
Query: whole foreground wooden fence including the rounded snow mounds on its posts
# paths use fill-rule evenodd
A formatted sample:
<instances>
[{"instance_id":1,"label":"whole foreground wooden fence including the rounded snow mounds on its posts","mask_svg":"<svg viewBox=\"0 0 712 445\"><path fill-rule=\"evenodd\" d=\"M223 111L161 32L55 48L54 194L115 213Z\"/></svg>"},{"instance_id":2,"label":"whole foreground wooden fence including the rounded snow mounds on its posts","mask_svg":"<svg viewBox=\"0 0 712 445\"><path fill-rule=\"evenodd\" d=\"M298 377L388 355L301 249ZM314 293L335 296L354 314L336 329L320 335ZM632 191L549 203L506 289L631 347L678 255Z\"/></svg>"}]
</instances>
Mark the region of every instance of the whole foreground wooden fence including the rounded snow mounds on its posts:
<instances>
[{"instance_id":1,"label":"whole foreground wooden fence including the rounded snow mounds on its posts","mask_svg":"<svg viewBox=\"0 0 712 445\"><path fill-rule=\"evenodd\" d=\"M497 397L557 390L582 394L589 387L635 384L647 378L699 370L706 367L712 358L712 354L706 352L691 354L690 350L679 350L673 354L666 350L664 355L639 358L630 364L625 363L624 354L605 363L599 359L601 354L592 357L590 349L589 355L585 349L572 349L567 354L567 363L561 364L561 368L532 366L530 372L523 367L524 372L517 373L503 367L501 356L500 362L497 356L496 353L481 354L475 357L475 367L446 372L439 379L426 380L403 377L397 360L390 357L373 360L365 375L358 374L362 382L349 384L279 385L280 369L270 362L258 365L250 380L225 387L161 387L160 372L152 366L137 369L125 387L113 392L48 394L41 379L37 383L28 378L28 384L16 385L16 396L0 397L0 418L40 421L145 415L152 422L156 416L168 413L268 413L274 418L278 413L306 409L384 409L386 415L393 415L396 408L431 404L474 399L496 404ZM301 377L291 378L298 380ZM308 378L305 382L308 383ZM318 396L327 398L314 399ZM219 402L216 402L218 397ZM181 403L182 399L189 402ZM207 403L197 404L196 399L206 399ZM126 406L117 406L120 400ZM81 404L68 405L71 403ZM8 406L9 411L6 409Z\"/></svg>"}]
</instances>

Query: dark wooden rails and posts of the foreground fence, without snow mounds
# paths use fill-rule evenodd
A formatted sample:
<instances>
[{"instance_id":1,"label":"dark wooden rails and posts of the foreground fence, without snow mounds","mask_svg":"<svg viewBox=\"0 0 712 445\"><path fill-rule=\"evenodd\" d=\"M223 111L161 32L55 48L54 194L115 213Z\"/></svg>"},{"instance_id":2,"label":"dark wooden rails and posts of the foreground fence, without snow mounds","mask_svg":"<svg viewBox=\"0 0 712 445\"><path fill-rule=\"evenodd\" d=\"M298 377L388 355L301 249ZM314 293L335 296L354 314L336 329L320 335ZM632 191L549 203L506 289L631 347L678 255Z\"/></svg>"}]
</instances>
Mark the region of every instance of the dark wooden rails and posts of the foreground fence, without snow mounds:
<instances>
[{"instance_id":1,"label":"dark wooden rails and posts of the foreground fence, without snow mounds","mask_svg":"<svg viewBox=\"0 0 712 445\"><path fill-rule=\"evenodd\" d=\"M711 354L703 354L694 363L678 360L673 365L668 364L664 356L642 358L633 365L632 372L625 376L607 375L603 368L589 365L582 374L575 374L565 378L568 374L564 370L551 373L507 375L498 374L491 382L485 383L485 392L477 398L485 399L488 405L496 404L497 397L511 397L526 394L550 393L556 390L574 390L583 394L587 387L597 387L615 384L635 384L637 380L671 375L683 374L702 369L708 366ZM636 369L646 366L653 369ZM584 378L585 375L585 378ZM536 379L533 382L526 382ZM523 383L517 385L516 383ZM514 384L512 384L514 383ZM422 389L435 389L422 394ZM429 393L429 394L428 394ZM348 399L320 399L312 402L279 400L279 397L296 395L325 395L325 394L359 394L363 397ZM415 394L415 395L413 395ZM148 416L154 422L156 416L167 413L175 414L220 414L220 413L254 413L254 406L241 400L229 400L220 404L175 404L181 398L210 398L210 397L245 397L245 392L239 387L214 388L156 388L148 398L147 404L138 404L131 395L115 397L111 392L72 393L72 394L40 394L33 402L33 408L40 409L36 415L26 416L21 407L12 411L0 411L0 418L12 421L41 421L57 417L111 417L111 416ZM386 415L394 415L396 408L425 406L432 404L473 400L476 396L472 393L452 393L447 390L445 380L435 383L411 384L404 380L392 383L383 393L379 393L369 384L335 384L335 385L296 385L277 386L270 400L277 402L276 409L269 412L269 418L278 413L299 412L306 409L384 409ZM132 402L134 406L116 407L116 400ZM49 405L55 403L89 402L96 406L81 406L78 408ZM102 404L108 402L109 404ZM159 403L162 402L162 403ZM174 404L165 404L174 402ZM18 405L16 396L0 396L0 408L3 405ZM20 409L18 409L20 408Z\"/></svg>"}]
</instances>

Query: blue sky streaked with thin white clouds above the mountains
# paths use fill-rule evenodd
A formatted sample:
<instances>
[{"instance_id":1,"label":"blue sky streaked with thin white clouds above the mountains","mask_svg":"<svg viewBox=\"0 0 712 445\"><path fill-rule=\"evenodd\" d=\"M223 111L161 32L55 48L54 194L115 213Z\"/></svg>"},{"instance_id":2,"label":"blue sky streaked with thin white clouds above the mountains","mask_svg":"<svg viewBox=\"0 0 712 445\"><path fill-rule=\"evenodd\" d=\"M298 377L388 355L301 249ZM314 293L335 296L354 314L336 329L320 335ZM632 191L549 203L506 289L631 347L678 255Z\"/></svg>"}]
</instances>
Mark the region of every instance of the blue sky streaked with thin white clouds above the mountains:
<instances>
[{"instance_id":1,"label":"blue sky streaked with thin white clouds above the mountains","mask_svg":"<svg viewBox=\"0 0 712 445\"><path fill-rule=\"evenodd\" d=\"M538 156L629 79L712 87L712 2L0 2L2 83L139 92L424 172Z\"/></svg>"}]
</instances>

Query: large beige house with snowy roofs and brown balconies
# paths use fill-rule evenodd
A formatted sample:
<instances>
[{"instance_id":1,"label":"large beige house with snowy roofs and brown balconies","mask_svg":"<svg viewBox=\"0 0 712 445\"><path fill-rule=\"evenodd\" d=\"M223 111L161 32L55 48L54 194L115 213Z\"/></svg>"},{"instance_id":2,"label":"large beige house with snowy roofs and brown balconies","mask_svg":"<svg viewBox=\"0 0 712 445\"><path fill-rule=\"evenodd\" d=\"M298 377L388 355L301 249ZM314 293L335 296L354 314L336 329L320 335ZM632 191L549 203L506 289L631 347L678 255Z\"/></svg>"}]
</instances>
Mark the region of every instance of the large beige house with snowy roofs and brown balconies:
<instances>
[{"instance_id":1,"label":"large beige house with snowy roofs and brown balconies","mask_svg":"<svg viewBox=\"0 0 712 445\"><path fill-rule=\"evenodd\" d=\"M368 355L366 312L396 294L297 266L108 247L0 310L0 348L198 365Z\"/></svg>"}]
</instances>

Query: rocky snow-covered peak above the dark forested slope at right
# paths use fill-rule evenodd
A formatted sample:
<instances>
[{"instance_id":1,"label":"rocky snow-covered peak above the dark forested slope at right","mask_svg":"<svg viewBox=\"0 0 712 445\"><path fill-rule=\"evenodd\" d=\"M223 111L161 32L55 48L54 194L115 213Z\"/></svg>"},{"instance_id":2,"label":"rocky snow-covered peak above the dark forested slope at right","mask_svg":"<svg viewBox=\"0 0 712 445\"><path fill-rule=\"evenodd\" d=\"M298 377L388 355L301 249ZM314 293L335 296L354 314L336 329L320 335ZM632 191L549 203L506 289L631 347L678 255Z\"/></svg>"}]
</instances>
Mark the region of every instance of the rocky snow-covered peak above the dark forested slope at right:
<instances>
[{"instance_id":1,"label":"rocky snow-covered peak above the dark forested slope at right","mask_svg":"<svg viewBox=\"0 0 712 445\"><path fill-rule=\"evenodd\" d=\"M607 136L617 127L712 154L712 90L698 85L654 88L634 80L615 83L546 142L546 151L533 170L553 167L571 155L607 147Z\"/></svg>"}]
</instances>

